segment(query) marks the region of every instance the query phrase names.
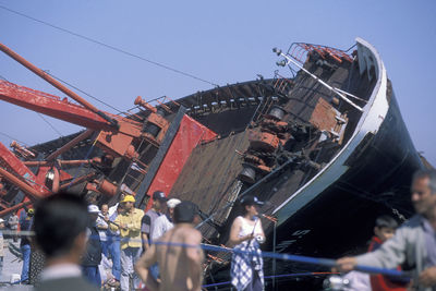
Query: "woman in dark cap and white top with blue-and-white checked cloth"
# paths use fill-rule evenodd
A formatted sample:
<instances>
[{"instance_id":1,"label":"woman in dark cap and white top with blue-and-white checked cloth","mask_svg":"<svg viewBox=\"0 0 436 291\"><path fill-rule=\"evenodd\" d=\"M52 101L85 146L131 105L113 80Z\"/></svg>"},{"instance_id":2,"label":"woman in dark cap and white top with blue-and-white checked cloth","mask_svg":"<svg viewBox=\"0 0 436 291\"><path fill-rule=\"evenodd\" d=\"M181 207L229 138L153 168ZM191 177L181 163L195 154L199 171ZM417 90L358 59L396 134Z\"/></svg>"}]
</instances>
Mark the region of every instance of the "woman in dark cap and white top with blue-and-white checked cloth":
<instances>
[{"instance_id":1,"label":"woman in dark cap and white top with blue-and-white checked cloth","mask_svg":"<svg viewBox=\"0 0 436 291\"><path fill-rule=\"evenodd\" d=\"M259 243L265 233L258 216L264 203L256 196L241 198L242 216L238 216L230 230L229 244L233 247L231 277L238 290L264 290L263 259Z\"/></svg>"}]
</instances>

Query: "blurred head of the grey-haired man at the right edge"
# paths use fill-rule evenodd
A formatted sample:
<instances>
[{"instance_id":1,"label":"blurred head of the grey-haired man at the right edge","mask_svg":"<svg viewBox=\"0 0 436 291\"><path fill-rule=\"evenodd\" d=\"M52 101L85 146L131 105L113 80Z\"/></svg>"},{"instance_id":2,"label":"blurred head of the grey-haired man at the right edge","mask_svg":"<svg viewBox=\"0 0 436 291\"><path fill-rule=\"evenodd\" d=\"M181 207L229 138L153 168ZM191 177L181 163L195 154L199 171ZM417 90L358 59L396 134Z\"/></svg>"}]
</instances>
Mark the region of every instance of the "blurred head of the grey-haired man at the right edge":
<instances>
[{"instance_id":1,"label":"blurred head of the grey-haired man at the right edge","mask_svg":"<svg viewBox=\"0 0 436 291\"><path fill-rule=\"evenodd\" d=\"M419 170L412 180L412 204L416 214L436 215L436 170Z\"/></svg>"}]
</instances>

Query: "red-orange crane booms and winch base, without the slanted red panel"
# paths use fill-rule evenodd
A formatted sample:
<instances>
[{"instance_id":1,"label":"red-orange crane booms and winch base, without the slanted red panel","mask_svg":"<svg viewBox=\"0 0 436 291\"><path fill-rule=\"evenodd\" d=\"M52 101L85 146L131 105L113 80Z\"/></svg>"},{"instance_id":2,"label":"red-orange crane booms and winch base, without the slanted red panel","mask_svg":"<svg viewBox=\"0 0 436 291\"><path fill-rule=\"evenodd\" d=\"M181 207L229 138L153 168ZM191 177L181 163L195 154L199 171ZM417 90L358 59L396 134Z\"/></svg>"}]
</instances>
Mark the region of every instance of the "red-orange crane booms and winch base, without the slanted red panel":
<instances>
[{"instance_id":1,"label":"red-orange crane booms and winch base, without the slanted red panel","mask_svg":"<svg viewBox=\"0 0 436 291\"><path fill-rule=\"evenodd\" d=\"M78 104L72 102L68 98L60 98L51 94L19 86L5 81L0 81L1 100L87 129L73 141L47 156L45 161L22 161L4 145L0 144L0 177L19 186L26 194L26 199L24 202L40 198L62 189L62 181L69 181L72 179L71 175L60 169L62 163L77 165L83 162L95 162L95 160L56 160L59 155L69 150L81 141L88 138L93 134L96 135L95 145L101 148L107 156L111 157L111 159L116 157L123 157L126 159L136 158L137 153L134 147L136 140L146 140L155 146L158 146L161 142L162 136L168 129L168 121L161 116L161 113L157 112L154 107L148 105L150 112L145 122L135 121L132 117L114 116L101 111L4 45L0 44L0 50L41 78L49 82ZM145 106L145 102L142 102L141 105ZM143 132L144 123L152 126L154 131ZM14 147L15 151L22 156L22 158L34 158L32 151L21 147L16 143L13 143L12 147ZM27 168L26 165L29 167L38 166L37 174ZM46 186L47 177L50 177L52 180L50 187ZM95 174L87 175L86 178L89 179L93 177L95 177ZM74 182L83 182L83 180L84 178L78 178L75 179ZM100 181L100 183L105 185L105 189L112 185L110 182L108 184L108 181L105 180ZM113 194L113 189L109 192ZM10 208L8 210L10 210ZM1 211L0 215L3 213L4 210Z\"/></svg>"}]
</instances>

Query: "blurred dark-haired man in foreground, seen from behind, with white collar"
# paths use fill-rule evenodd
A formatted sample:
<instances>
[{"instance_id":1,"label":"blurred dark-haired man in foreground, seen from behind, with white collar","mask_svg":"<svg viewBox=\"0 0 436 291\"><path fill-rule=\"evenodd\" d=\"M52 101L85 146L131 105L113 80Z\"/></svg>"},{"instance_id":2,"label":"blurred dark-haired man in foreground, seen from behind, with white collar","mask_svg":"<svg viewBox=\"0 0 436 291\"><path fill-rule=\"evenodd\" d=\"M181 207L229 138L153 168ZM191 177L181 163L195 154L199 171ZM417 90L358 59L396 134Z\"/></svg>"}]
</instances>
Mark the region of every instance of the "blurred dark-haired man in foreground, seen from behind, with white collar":
<instances>
[{"instance_id":1,"label":"blurred dark-haired man in foreground, seen from behind, with white collar","mask_svg":"<svg viewBox=\"0 0 436 291\"><path fill-rule=\"evenodd\" d=\"M59 193L38 203L36 243L46 255L36 291L96 291L83 277L81 257L86 248L87 206L75 195Z\"/></svg>"}]
</instances>

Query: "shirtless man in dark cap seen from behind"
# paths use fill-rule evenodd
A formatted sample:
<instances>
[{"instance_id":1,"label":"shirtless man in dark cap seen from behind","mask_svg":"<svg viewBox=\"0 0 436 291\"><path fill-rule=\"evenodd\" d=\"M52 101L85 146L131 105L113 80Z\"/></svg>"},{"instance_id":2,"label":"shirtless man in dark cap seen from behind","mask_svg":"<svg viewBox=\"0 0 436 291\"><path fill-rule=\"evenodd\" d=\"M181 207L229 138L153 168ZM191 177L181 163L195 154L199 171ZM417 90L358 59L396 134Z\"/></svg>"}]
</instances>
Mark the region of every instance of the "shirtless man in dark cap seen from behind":
<instances>
[{"instance_id":1,"label":"shirtless man in dark cap seen from behind","mask_svg":"<svg viewBox=\"0 0 436 291\"><path fill-rule=\"evenodd\" d=\"M152 244L136 263L135 269L149 290L202 290L204 254L199 247L202 233L193 225L195 215L193 203L177 205L174 228ZM150 276L150 267L156 263L160 266L160 282Z\"/></svg>"}]
</instances>

